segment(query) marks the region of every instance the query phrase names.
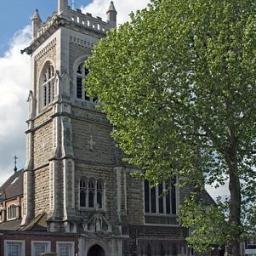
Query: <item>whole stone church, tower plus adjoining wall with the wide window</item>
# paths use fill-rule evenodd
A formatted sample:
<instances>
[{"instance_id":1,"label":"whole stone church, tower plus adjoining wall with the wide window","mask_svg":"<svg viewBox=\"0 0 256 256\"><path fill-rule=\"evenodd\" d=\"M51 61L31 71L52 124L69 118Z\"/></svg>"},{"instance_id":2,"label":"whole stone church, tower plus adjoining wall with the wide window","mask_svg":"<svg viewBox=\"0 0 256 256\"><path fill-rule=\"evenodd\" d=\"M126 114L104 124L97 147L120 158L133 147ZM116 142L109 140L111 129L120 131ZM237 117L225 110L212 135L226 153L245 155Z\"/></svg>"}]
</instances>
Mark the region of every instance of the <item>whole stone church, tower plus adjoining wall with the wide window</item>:
<instances>
[{"instance_id":1,"label":"whole stone church, tower plus adjoining wall with the wide window","mask_svg":"<svg viewBox=\"0 0 256 256\"><path fill-rule=\"evenodd\" d=\"M48 232L80 234L81 256L92 246L91 255L189 255L176 219L179 191L131 177L83 85L83 63L116 16L112 2L105 22L72 10L68 0L58 0L45 23L33 15L33 41L24 50L33 72L22 225L46 214Z\"/></svg>"}]
</instances>

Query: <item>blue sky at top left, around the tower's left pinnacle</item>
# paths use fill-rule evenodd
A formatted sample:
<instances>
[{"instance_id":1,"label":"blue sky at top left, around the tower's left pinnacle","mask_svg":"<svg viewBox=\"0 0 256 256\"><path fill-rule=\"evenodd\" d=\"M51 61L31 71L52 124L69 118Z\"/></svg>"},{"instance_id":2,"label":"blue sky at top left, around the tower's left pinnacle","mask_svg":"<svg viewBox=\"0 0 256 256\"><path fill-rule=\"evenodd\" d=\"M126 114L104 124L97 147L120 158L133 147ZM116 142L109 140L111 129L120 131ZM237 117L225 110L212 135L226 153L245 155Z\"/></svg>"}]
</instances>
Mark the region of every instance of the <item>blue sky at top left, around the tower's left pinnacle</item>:
<instances>
[{"instance_id":1,"label":"blue sky at top left, around the tower's left pinnacle","mask_svg":"<svg viewBox=\"0 0 256 256\"><path fill-rule=\"evenodd\" d=\"M70 4L71 4L70 0ZM76 7L88 5L90 0L75 0ZM8 48L13 34L25 25L35 9L39 9L41 18L45 20L57 7L57 0L9 0L1 1L0 11L0 56Z\"/></svg>"}]
</instances>

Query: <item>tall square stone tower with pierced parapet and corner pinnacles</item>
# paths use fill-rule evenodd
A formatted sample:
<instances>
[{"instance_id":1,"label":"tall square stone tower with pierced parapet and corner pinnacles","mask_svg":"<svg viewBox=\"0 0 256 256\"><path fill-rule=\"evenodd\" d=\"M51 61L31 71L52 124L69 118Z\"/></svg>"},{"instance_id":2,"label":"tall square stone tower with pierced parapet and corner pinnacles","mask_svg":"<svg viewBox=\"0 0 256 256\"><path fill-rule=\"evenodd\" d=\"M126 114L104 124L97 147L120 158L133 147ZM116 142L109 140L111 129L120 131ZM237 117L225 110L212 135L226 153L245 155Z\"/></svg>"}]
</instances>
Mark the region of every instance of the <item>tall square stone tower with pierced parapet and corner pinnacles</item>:
<instances>
[{"instance_id":1,"label":"tall square stone tower with pierced parapet and corner pinnacles","mask_svg":"<svg viewBox=\"0 0 256 256\"><path fill-rule=\"evenodd\" d=\"M38 10L33 15L33 40L22 51L33 67L22 225L46 215L50 232L78 232L89 213L107 209L104 180L117 166L117 154L112 128L83 79L93 45L115 26L112 16L105 22L71 9L68 0L58 0L46 22Z\"/></svg>"}]
</instances>

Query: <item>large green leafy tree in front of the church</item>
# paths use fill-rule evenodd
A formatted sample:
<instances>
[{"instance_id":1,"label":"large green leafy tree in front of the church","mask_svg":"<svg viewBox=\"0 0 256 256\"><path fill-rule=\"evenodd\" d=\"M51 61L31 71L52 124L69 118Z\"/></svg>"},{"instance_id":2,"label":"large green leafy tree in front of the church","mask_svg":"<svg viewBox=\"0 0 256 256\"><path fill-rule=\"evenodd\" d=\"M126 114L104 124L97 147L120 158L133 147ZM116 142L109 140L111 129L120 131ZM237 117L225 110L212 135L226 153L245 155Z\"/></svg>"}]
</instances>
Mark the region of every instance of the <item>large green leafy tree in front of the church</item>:
<instances>
[{"instance_id":1,"label":"large green leafy tree in front of the church","mask_svg":"<svg viewBox=\"0 0 256 256\"><path fill-rule=\"evenodd\" d=\"M255 214L256 2L155 0L131 19L94 48L86 86L143 177L192 188L192 245L239 255ZM226 204L204 206L204 186L225 181Z\"/></svg>"}]
</instances>

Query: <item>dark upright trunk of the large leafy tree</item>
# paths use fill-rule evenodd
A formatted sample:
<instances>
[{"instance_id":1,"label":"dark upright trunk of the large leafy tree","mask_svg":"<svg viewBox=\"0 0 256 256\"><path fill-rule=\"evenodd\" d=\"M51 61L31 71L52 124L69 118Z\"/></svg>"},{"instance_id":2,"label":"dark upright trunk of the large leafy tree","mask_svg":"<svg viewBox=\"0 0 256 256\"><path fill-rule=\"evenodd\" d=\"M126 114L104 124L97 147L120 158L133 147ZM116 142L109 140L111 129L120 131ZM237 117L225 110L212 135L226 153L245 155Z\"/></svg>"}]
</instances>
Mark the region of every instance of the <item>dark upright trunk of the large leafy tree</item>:
<instances>
[{"instance_id":1,"label":"dark upright trunk of the large leafy tree","mask_svg":"<svg viewBox=\"0 0 256 256\"><path fill-rule=\"evenodd\" d=\"M241 184L238 173L236 141L234 138L231 139L227 156L228 173L230 179L229 223L231 227L235 228L234 231L232 231L232 238L229 241L228 255L240 256Z\"/></svg>"}]
</instances>

